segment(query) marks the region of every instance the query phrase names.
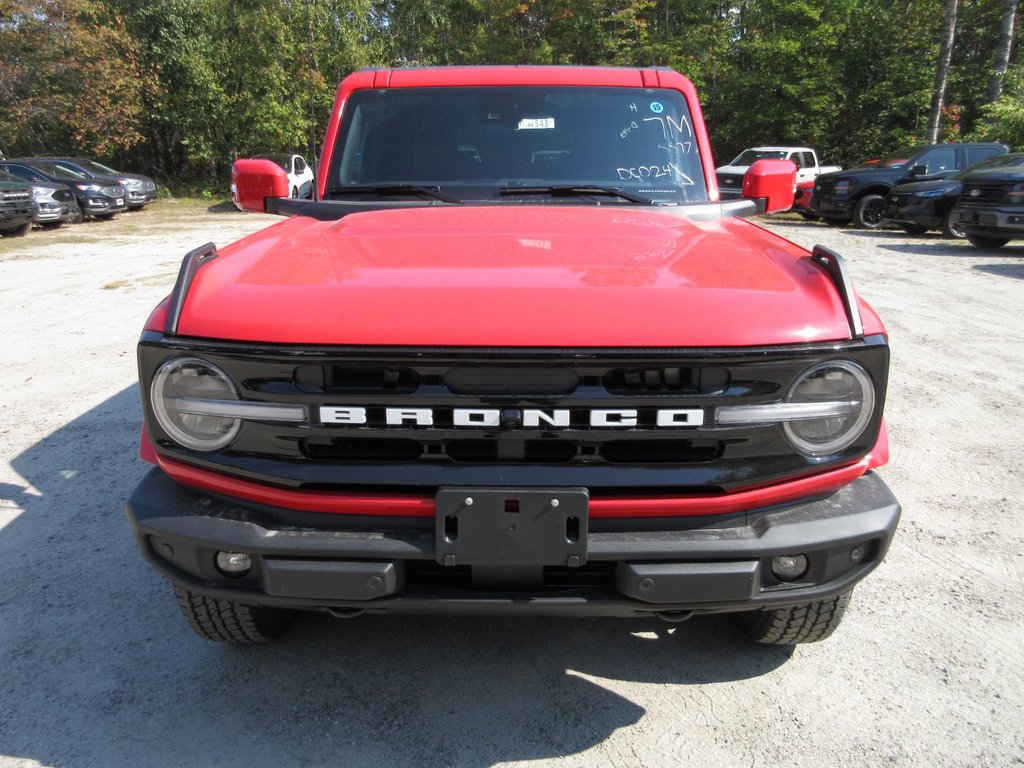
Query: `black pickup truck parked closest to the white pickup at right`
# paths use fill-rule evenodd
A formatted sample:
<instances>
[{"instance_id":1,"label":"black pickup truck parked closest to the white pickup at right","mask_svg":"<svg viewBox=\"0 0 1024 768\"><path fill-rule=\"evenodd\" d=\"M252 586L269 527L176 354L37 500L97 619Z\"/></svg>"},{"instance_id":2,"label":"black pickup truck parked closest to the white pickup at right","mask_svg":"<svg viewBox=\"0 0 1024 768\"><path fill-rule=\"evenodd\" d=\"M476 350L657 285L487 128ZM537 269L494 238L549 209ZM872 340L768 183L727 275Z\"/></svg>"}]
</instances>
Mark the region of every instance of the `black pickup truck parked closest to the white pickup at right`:
<instances>
[{"instance_id":1,"label":"black pickup truck parked closest to the white pickup at right","mask_svg":"<svg viewBox=\"0 0 1024 768\"><path fill-rule=\"evenodd\" d=\"M904 146L871 165L818 176L811 212L827 224L877 229L883 225L886 194L897 184L946 178L975 163L1009 152L1006 144Z\"/></svg>"}]
</instances>

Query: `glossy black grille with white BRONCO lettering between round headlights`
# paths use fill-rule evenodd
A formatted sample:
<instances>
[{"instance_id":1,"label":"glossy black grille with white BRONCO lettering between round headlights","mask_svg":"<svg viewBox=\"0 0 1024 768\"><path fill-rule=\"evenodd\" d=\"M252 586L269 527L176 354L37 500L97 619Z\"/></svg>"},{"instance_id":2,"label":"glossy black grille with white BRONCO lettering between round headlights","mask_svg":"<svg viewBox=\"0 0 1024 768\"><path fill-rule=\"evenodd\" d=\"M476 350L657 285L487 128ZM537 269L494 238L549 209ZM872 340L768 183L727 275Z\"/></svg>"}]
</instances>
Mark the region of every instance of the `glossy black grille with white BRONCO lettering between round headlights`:
<instances>
[{"instance_id":1,"label":"glossy black grille with white BRONCO lettering between round headlights","mask_svg":"<svg viewBox=\"0 0 1024 768\"><path fill-rule=\"evenodd\" d=\"M179 354L225 371L246 399L300 404L308 418L245 421L222 452L197 454L174 443L147 413L158 450L249 479L318 489L479 484L654 493L771 482L869 451L888 371L882 337L755 349L445 350L297 349L147 333L139 346L143 392L161 364ZM719 407L778 401L802 372L837 358L857 360L878 382L871 426L843 456L801 456L777 424L716 423Z\"/></svg>"}]
</instances>

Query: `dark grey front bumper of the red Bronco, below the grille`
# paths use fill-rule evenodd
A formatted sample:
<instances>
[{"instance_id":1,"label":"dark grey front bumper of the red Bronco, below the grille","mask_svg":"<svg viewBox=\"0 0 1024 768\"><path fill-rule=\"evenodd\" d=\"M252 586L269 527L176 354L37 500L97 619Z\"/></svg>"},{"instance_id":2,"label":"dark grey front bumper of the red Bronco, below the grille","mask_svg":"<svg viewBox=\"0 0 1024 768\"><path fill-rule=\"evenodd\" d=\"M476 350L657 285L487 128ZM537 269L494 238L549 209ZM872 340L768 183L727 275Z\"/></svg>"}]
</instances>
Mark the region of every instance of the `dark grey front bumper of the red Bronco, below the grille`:
<instances>
[{"instance_id":1,"label":"dark grey front bumper of the red Bronco, below the grille","mask_svg":"<svg viewBox=\"0 0 1024 768\"><path fill-rule=\"evenodd\" d=\"M583 561L546 565L453 565L439 546L443 523L430 518L294 512L186 488L159 469L126 513L166 579L245 604L338 614L684 616L846 592L882 561L900 507L868 473L826 498L737 515L591 519ZM252 567L225 575L217 552L249 554ZM780 582L772 558L796 554L808 557L807 573Z\"/></svg>"}]
</instances>

